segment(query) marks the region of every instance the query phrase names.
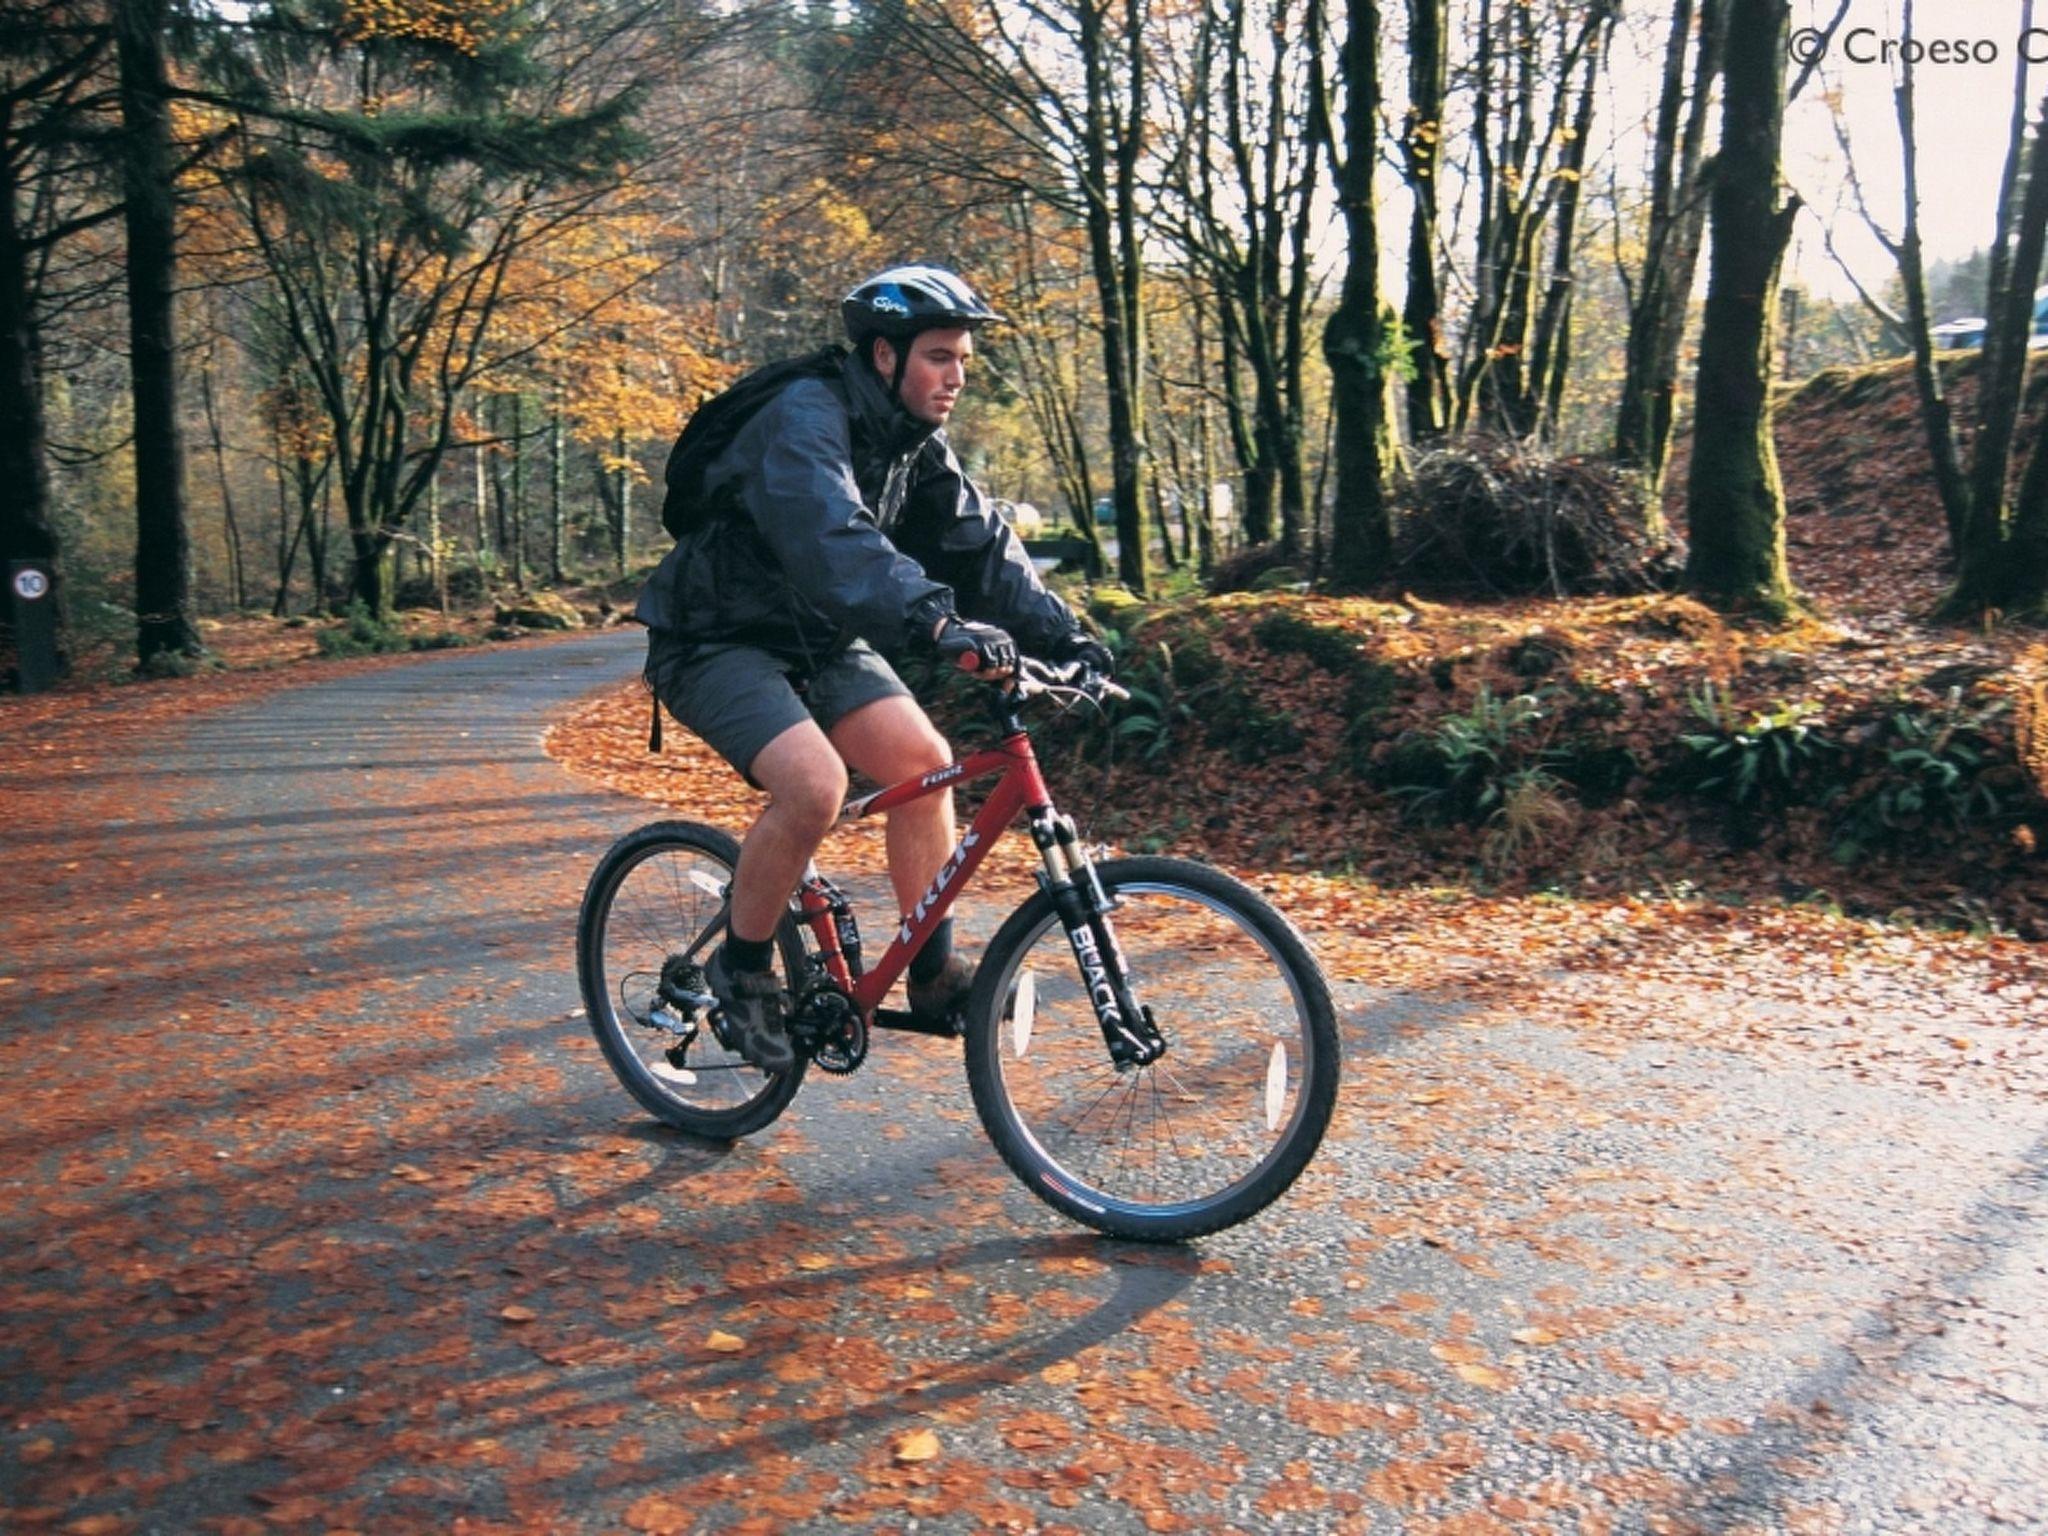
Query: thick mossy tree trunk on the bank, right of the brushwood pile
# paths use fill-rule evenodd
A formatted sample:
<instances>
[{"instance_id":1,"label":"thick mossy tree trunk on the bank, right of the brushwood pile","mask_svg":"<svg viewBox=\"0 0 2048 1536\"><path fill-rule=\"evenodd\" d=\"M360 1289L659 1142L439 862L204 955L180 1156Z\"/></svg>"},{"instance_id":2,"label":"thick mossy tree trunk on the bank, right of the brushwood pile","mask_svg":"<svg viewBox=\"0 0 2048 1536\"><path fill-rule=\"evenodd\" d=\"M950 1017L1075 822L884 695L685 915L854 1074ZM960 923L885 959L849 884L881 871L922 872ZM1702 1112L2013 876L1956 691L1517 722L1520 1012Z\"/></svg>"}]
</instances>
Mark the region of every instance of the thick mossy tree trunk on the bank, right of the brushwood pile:
<instances>
[{"instance_id":1,"label":"thick mossy tree trunk on the bank, right of the brushwood pile","mask_svg":"<svg viewBox=\"0 0 2048 1536\"><path fill-rule=\"evenodd\" d=\"M1688 506L1686 586L1765 610L1792 602L1769 410L1778 274L1798 213L1780 188L1790 14L1790 0L1733 0L1729 10Z\"/></svg>"}]
</instances>

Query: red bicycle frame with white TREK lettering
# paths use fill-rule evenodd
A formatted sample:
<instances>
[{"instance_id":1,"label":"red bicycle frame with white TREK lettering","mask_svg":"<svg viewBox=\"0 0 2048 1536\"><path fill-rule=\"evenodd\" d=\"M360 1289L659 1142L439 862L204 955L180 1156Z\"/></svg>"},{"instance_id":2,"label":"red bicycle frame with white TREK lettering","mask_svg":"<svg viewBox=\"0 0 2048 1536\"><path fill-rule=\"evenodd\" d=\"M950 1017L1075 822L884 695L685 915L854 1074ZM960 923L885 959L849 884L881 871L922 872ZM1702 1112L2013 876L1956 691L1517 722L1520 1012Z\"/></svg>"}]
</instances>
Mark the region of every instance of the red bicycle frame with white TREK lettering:
<instances>
[{"instance_id":1,"label":"red bicycle frame with white TREK lettering","mask_svg":"<svg viewBox=\"0 0 2048 1536\"><path fill-rule=\"evenodd\" d=\"M1014 731L993 748L956 758L944 768L934 768L918 778L905 778L899 784L852 799L840 811L842 821L854 821L874 811L893 811L899 805L922 801L928 795L950 793L954 784L971 784L989 774L1001 776L995 788L989 791L987 803L967 831L961 834L958 846L940 864L938 874L932 877L932 885L918 899L918 905L903 913L889 948L877 956L872 967L856 973L858 954L850 956L844 950L838 920L850 915L846 899L817 872L815 864L805 872L795 897L797 913L811 928L834 985L854 999L854 1008L860 1010L862 1018L872 1020L883 997L897 983L897 977L909 969L911 956L924 948L932 930L952 911L954 899L967 889L975 870L981 868L981 860L989 856L989 850L1008 831L1010 823L1016 821L1018 813L1024 811L1030 815L1032 840L1049 850L1057 846L1053 831L1055 811L1053 795L1038 772L1038 758L1032 754L1026 731Z\"/></svg>"}]
</instances>

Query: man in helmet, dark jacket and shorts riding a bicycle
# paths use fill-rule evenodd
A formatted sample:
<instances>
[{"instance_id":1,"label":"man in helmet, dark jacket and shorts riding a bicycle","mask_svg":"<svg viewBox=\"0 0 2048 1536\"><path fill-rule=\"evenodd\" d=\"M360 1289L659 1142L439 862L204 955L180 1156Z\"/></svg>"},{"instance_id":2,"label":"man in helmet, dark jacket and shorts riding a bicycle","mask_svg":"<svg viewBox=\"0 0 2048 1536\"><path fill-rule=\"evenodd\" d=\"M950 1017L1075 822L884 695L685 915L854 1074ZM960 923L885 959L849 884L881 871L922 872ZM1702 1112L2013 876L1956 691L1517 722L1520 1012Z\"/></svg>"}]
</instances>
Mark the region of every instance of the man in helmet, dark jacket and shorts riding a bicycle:
<instances>
[{"instance_id":1,"label":"man in helmet, dark jacket and shorts riding a bicycle","mask_svg":"<svg viewBox=\"0 0 2048 1536\"><path fill-rule=\"evenodd\" d=\"M879 651L1001 678L1022 647L1110 672L1108 649L1044 590L946 444L975 332L1001 315L940 266L879 272L840 313L852 352L750 375L725 412L700 412L715 432L678 442L664 510L676 547L635 608L655 696L770 797L707 969L735 1049L762 1071L795 1065L772 942L838 819L848 766L889 784L952 758ZM889 813L903 911L952 840L950 793ZM911 1012L942 1018L971 981L948 920L911 961Z\"/></svg>"}]
</instances>

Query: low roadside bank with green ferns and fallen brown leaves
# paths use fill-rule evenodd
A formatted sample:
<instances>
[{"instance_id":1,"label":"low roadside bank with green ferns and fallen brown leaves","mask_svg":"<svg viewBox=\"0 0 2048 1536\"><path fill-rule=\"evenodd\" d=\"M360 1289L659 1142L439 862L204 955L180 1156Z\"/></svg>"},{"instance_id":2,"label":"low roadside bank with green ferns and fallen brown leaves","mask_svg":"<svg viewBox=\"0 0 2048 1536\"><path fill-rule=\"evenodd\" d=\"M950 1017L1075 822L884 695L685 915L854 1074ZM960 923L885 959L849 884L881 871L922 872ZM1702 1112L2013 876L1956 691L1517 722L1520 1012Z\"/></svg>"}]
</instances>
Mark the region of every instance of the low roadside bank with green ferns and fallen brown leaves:
<instances>
[{"instance_id":1,"label":"low roadside bank with green ferns and fallen brown leaves","mask_svg":"<svg viewBox=\"0 0 2048 1536\"><path fill-rule=\"evenodd\" d=\"M1090 602L1130 702L1040 731L1133 846L1382 883L1716 889L2040 932L2017 668L1669 596ZM1954 649L1954 647L1952 647ZM1958 915L1962 913L1962 915Z\"/></svg>"}]
</instances>

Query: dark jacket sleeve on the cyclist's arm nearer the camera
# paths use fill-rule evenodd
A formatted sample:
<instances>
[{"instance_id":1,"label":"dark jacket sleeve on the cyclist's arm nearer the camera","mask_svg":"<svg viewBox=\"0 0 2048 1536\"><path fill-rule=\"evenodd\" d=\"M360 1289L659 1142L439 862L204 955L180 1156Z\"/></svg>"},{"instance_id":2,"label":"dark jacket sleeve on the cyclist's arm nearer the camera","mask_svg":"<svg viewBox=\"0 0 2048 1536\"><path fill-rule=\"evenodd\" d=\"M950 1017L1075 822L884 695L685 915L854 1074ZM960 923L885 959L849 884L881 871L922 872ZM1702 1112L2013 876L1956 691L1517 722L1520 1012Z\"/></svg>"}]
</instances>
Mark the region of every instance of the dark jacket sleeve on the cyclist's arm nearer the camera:
<instances>
[{"instance_id":1,"label":"dark jacket sleeve on the cyclist's arm nearer the camera","mask_svg":"<svg viewBox=\"0 0 2048 1536\"><path fill-rule=\"evenodd\" d=\"M741 477L741 504L799 598L883 649L909 639L920 604L952 606L860 500L846 412L823 385L782 391L745 436L756 473Z\"/></svg>"}]
</instances>

